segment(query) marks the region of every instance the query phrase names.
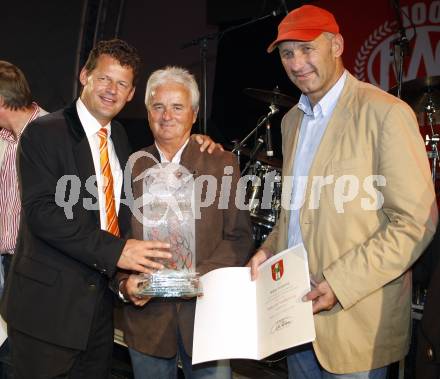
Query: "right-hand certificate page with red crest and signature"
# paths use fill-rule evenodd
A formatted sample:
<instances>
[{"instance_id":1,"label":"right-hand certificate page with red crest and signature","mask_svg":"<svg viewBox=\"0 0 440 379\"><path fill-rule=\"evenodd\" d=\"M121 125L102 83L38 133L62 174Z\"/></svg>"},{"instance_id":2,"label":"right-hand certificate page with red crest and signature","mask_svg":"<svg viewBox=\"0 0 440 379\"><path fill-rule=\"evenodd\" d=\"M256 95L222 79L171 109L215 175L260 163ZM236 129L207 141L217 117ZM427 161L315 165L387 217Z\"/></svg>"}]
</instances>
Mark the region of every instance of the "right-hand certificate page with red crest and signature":
<instances>
[{"instance_id":1,"label":"right-hand certificate page with red crest and signature","mask_svg":"<svg viewBox=\"0 0 440 379\"><path fill-rule=\"evenodd\" d=\"M310 276L303 245L273 256L260 266L257 280L258 356L302 345L315 339Z\"/></svg>"}]
</instances>

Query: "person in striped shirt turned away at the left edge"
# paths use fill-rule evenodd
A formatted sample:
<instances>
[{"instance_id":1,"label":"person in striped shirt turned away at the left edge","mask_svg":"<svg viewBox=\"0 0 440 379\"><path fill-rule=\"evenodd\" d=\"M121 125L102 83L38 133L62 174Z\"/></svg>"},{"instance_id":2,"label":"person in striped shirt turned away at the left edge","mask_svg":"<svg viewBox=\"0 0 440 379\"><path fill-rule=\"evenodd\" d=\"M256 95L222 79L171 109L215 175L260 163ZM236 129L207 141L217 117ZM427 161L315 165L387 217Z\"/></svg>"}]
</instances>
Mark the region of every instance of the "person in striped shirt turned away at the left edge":
<instances>
[{"instance_id":1,"label":"person in striped shirt turned away at the left edge","mask_svg":"<svg viewBox=\"0 0 440 379\"><path fill-rule=\"evenodd\" d=\"M15 252L20 222L16 154L23 130L47 112L32 101L23 72L14 64L0 61L0 292L8 277ZM11 353L6 324L0 318L0 378L12 378Z\"/></svg>"}]
</instances>

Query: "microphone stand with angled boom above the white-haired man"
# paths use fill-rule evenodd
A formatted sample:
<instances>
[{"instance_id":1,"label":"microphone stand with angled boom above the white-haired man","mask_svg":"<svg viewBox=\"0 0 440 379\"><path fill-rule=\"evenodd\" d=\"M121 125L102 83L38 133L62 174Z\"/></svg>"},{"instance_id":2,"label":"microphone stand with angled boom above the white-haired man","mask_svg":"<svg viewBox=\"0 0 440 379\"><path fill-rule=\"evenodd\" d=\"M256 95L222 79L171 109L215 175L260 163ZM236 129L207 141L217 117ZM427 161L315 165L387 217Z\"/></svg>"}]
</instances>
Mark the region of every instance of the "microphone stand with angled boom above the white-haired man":
<instances>
[{"instance_id":1,"label":"microphone stand with angled boom above the white-haired man","mask_svg":"<svg viewBox=\"0 0 440 379\"><path fill-rule=\"evenodd\" d=\"M255 24L257 22L266 20L270 17L276 17L278 15L280 15L282 13L282 9L278 8L264 16L255 18L253 20L244 22L242 24L239 25L234 25L231 26L229 28L226 28L225 30L221 31L221 32L216 32L216 33L209 33L209 34L205 34L203 36L197 37L189 42L186 42L182 45L182 49L186 49L188 47L191 46L196 46L199 45L200 48L200 61L201 61L201 71L202 71L202 85L201 85L201 96L200 98L202 99L202 106L201 106L201 110L202 110L202 114L199 117L199 132L202 134L208 134L208 126L207 126L207 98L208 98L208 90L207 90L207 71L208 71L208 58L207 58L207 52L208 52L208 41L209 40L213 40L213 39L217 39L219 40L221 37L223 37L223 35L225 35L226 33L232 32L233 30L237 30L237 29L241 29L244 28L245 26L248 25L252 25Z\"/></svg>"}]
</instances>

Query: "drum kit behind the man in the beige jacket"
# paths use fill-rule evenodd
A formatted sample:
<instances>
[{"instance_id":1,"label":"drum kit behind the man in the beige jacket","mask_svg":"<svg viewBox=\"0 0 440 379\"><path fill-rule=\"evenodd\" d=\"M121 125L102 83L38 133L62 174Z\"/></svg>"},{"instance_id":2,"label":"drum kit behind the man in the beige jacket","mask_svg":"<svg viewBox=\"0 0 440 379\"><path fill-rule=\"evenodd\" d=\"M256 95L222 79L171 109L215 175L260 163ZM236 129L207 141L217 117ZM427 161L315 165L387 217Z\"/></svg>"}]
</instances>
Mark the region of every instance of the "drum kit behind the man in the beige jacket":
<instances>
[{"instance_id":1,"label":"drum kit behind the man in the beige jacket","mask_svg":"<svg viewBox=\"0 0 440 379\"><path fill-rule=\"evenodd\" d=\"M281 210L282 161L273 157L270 135L270 119L279 111L278 107L290 108L295 99L273 90L246 88L246 95L269 104L269 113L262 116L257 126L239 143L233 152L239 161L246 157L242 175L247 175L247 204L251 214L254 240L257 247L266 239ZM397 86L390 91L397 95ZM440 200L439 151L440 141L440 76L416 78L402 83L401 98L407 102L418 117L420 133L425 140L427 155L430 161L432 179ZM265 133L258 136L259 129L265 125ZM253 149L245 147L251 136L255 137ZM265 145L266 151L260 151ZM440 201L439 201L440 204Z\"/></svg>"}]
</instances>

